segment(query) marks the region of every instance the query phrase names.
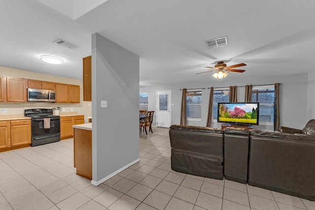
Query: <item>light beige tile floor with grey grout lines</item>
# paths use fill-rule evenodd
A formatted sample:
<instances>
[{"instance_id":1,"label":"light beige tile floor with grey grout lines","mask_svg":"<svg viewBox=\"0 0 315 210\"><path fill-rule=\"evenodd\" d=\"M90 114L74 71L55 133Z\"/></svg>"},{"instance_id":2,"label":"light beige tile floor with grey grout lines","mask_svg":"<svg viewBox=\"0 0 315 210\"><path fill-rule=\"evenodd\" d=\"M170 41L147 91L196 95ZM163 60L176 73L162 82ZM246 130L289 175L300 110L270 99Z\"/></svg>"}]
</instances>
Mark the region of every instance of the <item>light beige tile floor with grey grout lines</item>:
<instances>
[{"instance_id":1,"label":"light beige tile floor with grey grout lines","mask_svg":"<svg viewBox=\"0 0 315 210\"><path fill-rule=\"evenodd\" d=\"M315 202L171 170L168 129L140 134L140 162L99 186L75 174L73 139L0 153L0 210L315 210Z\"/></svg>"}]
</instances>

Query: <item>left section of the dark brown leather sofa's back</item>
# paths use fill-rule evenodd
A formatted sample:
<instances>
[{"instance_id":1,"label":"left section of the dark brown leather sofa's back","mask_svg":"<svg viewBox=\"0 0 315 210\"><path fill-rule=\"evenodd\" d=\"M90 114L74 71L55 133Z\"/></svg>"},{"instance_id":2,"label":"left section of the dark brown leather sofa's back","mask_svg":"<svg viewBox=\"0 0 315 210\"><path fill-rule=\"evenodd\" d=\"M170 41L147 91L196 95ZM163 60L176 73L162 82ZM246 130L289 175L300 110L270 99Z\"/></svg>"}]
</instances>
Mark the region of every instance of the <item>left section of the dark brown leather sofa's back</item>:
<instances>
[{"instance_id":1,"label":"left section of the dark brown leather sofa's back","mask_svg":"<svg viewBox=\"0 0 315 210\"><path fill-rule=\"evenodd\" d=\"M171 166L174 171L223 179L223 132L221 129L172 125Z\"/></svg>"}]
</instances>

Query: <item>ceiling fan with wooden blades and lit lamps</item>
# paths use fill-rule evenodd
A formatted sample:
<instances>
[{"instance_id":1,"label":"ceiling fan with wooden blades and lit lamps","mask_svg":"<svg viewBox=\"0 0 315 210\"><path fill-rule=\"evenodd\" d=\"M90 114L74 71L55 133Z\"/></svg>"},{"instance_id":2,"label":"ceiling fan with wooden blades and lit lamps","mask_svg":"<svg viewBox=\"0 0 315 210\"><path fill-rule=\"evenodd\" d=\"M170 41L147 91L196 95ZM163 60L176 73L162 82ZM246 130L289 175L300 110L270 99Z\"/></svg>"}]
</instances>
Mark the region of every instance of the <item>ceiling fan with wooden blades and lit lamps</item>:
<instances>
[{"instance_id":1,"label":"ceiling fan with wooden blades and lit lamps","mask_svg":"<svg viewBox=\"0 0 315 210\"><path fill-rule=\"evenodd\" d=\"M223 79L223 78L227 77L227 75L229 74L228 73L229 71L240 72L240 73L244 72L245 70L233 69L233 68L245 66L245 65L246 65L245 63L239 63L239 64L235 64L235 65L226 66L226 64L223 61L218 61L218 64L216 64L215 67L205 66L205 68L213 68L213 70L204 71L204 72L200 72L200 73L196 73L196 74L202 74L202 73L216 71L216 73L213 74L212 76L217 78L217 79Z\"/></svg>"}]
</instances>

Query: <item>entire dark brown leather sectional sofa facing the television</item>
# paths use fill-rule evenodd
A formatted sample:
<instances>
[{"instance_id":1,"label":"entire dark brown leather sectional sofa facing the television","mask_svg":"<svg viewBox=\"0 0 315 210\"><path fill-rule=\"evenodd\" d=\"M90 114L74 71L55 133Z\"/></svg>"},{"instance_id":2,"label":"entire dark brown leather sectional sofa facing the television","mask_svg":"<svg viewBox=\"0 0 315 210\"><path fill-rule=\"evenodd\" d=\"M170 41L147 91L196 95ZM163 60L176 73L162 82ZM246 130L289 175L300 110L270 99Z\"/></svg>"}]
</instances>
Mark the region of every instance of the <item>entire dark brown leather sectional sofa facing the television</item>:
<instances>
[{"instance_id":1,"label":"entire dark brown leather sectional sofa facing the television","mask_svg":"<svg viewBox=\"0 0 315 210\"><path fill-rule=\"evenodd\" d=\"M312 121L312 120L311 120ZM234 180L315 201L315 134L172 125L172 170ZM307 128L309 127L309 128ZM282 131L286 128L283 128Z\"/></svg>"}]
</instances>

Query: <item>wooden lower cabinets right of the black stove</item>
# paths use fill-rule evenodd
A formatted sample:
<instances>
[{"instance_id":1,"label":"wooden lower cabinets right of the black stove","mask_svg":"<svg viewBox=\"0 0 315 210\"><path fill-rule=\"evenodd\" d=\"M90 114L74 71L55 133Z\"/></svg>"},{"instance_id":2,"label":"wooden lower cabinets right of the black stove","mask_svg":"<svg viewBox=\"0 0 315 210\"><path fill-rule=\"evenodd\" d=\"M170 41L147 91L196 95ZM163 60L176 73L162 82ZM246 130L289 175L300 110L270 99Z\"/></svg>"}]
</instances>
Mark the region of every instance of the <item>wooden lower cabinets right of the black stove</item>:
<instances>
[{"instance_id":1,"label":"wooden lower cabinets right of the black stove","mask_svg":"<svg viewBox=\"0 0 315 210\"><path fill-rule=\"evenodd\" d=\"M72 125L84 124L84 115L60 117L60 139L73 138Z\"/></svg>"}]
</instances>

